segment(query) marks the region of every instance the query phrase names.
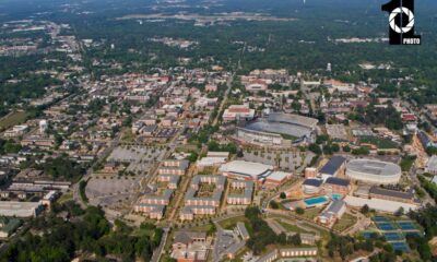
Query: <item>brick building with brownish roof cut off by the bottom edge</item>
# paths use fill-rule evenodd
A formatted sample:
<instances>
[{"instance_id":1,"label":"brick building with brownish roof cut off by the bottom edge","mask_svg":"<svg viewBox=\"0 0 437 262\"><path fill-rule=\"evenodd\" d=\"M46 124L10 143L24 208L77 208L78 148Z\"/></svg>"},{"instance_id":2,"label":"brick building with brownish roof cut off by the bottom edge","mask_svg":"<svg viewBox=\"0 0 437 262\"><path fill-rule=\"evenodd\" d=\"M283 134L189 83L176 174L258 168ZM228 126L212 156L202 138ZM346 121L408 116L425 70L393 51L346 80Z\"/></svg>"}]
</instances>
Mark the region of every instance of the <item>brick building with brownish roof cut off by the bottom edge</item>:
<instances>
[{"instance_id":1,"label":"brick building with brownish roof cut off by the bottom edge","mask_svg":"<svg viewBox=\"0 0 437 262\"><path fill-rule=\"evenodd\" d=\"M178 262L203 262L208 259L209 245L205 233L176 231L172 258Z\"/></svg>"}]
</instances>

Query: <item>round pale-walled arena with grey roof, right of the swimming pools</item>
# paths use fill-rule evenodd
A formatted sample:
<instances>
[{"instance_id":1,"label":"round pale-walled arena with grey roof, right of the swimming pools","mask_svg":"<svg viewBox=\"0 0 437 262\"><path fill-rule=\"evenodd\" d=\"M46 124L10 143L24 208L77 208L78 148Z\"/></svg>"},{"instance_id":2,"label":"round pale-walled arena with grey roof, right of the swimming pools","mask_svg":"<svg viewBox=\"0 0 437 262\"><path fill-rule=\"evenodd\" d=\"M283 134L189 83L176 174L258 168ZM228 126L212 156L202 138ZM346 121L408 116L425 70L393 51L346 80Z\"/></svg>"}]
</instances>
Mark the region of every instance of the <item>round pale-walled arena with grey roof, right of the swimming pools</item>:
<instances>
[{"instance_id":1,"label":"round pale-walled arena with grey roof, right of the swimming pools","mask_svg":"<svg viewBox=\"0 0 437 262\"><path fill-rule=\"evenodd\" d=\"M401 175L401 167L389 162L363 158L351 160L346 166L347 177L367 183L398 183Z\"/></svg>"}]
</instances>

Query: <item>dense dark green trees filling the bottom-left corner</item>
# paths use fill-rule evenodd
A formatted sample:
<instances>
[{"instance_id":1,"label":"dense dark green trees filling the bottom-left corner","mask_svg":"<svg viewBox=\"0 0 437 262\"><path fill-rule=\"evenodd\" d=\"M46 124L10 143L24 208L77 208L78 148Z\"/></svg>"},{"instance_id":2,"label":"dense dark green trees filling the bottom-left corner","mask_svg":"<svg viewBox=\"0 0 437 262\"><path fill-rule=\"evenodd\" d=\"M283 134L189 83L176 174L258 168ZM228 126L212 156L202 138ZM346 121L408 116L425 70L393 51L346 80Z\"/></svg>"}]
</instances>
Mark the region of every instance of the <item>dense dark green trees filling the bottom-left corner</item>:
<instances>
[{"instance_id":1,"label":"dense dark green trees filling the bottom-left corner","mask_svg":"<svg viewBox=\"0 0 437 262\"><path fill-rule=\"evenodd\" d=\"M59 214L68 213L66 221ZM67 202L56 205L48 216L31 222L27 233L12 240L0 254L4 262L62 262L95 254L98 261L150 261L160 245L162 229L143 224L133 229L120 221L111 225L98 207L81 210Z\"/></svg>"}]
</instances>

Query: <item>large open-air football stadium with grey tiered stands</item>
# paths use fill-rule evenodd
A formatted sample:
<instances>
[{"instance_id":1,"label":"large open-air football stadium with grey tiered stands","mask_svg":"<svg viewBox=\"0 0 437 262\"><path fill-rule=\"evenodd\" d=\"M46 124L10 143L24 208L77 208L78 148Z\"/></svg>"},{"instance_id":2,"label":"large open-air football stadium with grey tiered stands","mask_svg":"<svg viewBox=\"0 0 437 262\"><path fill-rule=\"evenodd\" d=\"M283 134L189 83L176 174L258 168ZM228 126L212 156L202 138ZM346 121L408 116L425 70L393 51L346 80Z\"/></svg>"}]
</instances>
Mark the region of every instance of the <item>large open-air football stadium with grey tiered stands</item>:
<instances>
[{"instance_id":1,"label":"large open-air football stadium with grey tiered stands","mask_svg":"<svg viewBox=\"0 0 437 262\"><path fill-rule=\"evenodd\" d=\"M247 139L250 140L256 135L258 142L265 140L270 144L277 144L277 142L274 142L274 139L275 141L281 141L281 136L275 135L273 138L269 134L280 134L286 139L310 140L316 130L317 122L318 120L314 118L293 114L273 112L270 114L269 117L258 119L255 122L248 123L244 129L240 129L238 139L245 139L243 136L247 135Z\"/></svg>"}]
</instances>

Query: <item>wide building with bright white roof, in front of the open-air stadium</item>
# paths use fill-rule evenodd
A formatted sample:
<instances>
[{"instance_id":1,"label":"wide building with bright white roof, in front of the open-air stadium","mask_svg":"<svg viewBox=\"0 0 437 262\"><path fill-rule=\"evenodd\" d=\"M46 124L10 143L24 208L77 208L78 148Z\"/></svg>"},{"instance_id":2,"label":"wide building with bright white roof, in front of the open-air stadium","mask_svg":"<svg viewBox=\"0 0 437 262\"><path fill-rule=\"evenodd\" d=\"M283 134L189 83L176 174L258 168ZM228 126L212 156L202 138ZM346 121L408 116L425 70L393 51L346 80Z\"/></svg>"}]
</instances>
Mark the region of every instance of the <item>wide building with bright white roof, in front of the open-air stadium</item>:
<instances>
[{"instance_id":1,"label":"wide building with bright white roof, in front of the open-air stadium","mask_svg":"<svg viewBox=\"0 0 437 262\"><path fill-rule=\"evenodd\" d=\"M222 165L218 170L229 178L256 181L270 176L273 166L255 162L233 160Z\"/></svg>"}]
</instances>

